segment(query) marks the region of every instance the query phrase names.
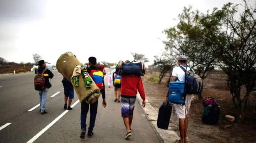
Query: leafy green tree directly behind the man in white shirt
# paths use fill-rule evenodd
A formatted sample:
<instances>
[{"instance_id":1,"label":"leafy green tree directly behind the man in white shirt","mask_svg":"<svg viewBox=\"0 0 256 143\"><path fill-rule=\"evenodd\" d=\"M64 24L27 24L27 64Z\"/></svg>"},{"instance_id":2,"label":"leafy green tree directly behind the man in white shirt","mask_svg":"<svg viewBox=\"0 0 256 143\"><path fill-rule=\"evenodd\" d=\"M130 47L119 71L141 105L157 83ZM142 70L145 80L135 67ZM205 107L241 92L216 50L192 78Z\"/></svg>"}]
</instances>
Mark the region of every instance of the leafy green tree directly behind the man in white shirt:
<instances>
[{"instance_id":1,"label":"leafy green tree directly behind the man in white shirt","mask_svg":"<svg viewBox=\"0 0 256 143\"><path fill-rule=\"evenodd\" d=\"M216 57L212 54L211 44L203 38L201 14L198 10L192 11L192 7L184 7L178 15L179 23L164 30L168 41L164 42L166 49L171 50L177 56L184 54L189 57L188 65L204 80L208 73L214 69Z\"/></svg>"}]
</instances>

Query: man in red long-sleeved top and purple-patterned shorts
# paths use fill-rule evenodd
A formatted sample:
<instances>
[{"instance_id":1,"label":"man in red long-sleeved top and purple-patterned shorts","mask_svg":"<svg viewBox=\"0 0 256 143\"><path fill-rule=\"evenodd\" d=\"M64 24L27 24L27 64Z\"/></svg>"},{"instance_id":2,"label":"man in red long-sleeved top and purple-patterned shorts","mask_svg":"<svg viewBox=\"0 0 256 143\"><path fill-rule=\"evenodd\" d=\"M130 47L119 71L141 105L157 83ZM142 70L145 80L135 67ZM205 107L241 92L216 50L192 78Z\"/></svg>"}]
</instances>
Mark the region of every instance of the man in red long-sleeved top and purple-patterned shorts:
<instances>
[{"instance_id":1,"label":"man in red long-sleeved top and purple-patterned shorts","mask_svg":"<svg viewBox=\"0 0 256 143\"><path fill-rule=\"evenodd\" d=\"M126 63L129 61L127 60ZM124 125L126 127L127 134L125 139L130 139L131 125L134 111L134 104L136 101L137 91L140 93L142 98L142 106L146 105L146 96L142 83L142 79L137 75L121 75L122 86L121 86L121 103L122 103L122 118L124 119Z\"/></svg>"}]
</instances>

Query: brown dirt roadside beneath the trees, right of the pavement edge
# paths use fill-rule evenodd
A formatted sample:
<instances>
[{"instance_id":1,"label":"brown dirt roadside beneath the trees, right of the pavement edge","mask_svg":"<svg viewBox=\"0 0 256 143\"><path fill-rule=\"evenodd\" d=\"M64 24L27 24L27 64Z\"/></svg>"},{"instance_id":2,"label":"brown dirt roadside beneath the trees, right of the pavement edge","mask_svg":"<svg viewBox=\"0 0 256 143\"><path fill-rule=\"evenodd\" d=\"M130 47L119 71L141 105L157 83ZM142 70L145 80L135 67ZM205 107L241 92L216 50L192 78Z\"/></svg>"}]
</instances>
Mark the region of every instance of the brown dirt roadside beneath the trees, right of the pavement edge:
<instances>
[{"instance_id":1,"label":"brown dirt roadside beneath the trees, right of the pavement edge","mask_svg":"<svg viewBox=\"0 0 256 143\"><path fill-rule=\"evenodd\" d=\"M164 77L163 83L156 83L157 72L148 72L143 77L144 88L148 102L158 111L158 108L166 98L168 87L166 87L166 81L168 75ZM212 80L218 74L220 79ZM221 89L218 89L221 88ZM225 89L225 90L222 90ZM207 80L205 80L204 98L214 97L221 107L221 115L218 125L204 125L201 122L202 117L202 101L198 101L198 97L195 96L190 107L190 118L188 134L190 137L190 143L256 143L255 131L256 131L256 117L255 96L251 96L250 107L252 111L249 111L250 119L245 122L227 122L224 119L224 115L229 113L234 115L235 109L232 107L229 92L226 91L225 76L220 73L212 73ZM255 118L256 119L256 118ZM171 115L170 124L172 129L179 135L178 119Z\"/></svg>"}]
</instances>

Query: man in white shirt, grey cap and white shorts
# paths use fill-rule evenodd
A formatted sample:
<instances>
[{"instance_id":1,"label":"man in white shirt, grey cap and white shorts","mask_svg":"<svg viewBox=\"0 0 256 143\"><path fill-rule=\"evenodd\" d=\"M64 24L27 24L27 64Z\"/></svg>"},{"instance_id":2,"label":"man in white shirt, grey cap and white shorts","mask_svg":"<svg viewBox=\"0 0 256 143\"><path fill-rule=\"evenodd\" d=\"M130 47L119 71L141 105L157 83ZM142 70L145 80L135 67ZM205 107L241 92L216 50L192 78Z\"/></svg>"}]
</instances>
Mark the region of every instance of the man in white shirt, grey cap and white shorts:
<instances>
[{"instance_id":1,"label":"man in white shirt, grey cap and white shorts","mask_svg":"<svg viewBox=\"0 0 256 143\"><path fill-rule=\"evenodd\" d=\"M171 81L185 81L185 72L182 68L190 71L190 68L186 66L187 58L185 55L181 55L178 57L178 65L172 70ZM194 70L192 70L194 71ZM177 139L175 143L188 143L188 115L189 109L192 99L194 95L186 94L185 105L173 104L174 114L179 119L179 130L180 130L180 139ZM166 97L166 101L168 101L168 94Z\"/></svg>"}]
</instances>

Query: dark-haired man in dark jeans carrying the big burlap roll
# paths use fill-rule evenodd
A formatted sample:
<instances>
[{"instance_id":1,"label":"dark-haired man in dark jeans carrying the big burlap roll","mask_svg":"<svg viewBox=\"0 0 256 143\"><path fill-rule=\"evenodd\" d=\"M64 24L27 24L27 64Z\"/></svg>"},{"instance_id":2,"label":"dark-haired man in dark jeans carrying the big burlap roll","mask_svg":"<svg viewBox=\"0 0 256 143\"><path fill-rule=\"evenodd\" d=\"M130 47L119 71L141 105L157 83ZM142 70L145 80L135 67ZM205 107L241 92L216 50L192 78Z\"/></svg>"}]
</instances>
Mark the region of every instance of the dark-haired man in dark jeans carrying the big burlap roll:
<instances>
[{"instance_id":1,"label":"dark-haired man in dark jeans carrying the big burlap roll","mask_svg":"<svg viewBox=\"0 0 256 143\"><path fill-rule=\"evenodd\" d=\"M91 74L91 72L102 72L100 71L99 68L96 67L96 64L97 64L97 60L95 57L90 57L89 59L89 67L87 68L87 72ZM105 108L107 106L107 103L106 103L106 99L105 99L105 83L104 83L104 78L103 78L103 73L102 73L102 83L99 83L100 85L102 85L102 89L100 90L100 93L102 95L102 106ZM91 76L92 77L92 76ZM92 77L93 79L93 77ZM87 117L87 113L89 111L89 106L90 106L90 126L88 128L88 134L87 136L88 137L92 137L94 135L94 133L92 132L93 131L93 128L94 128L94 125L95 125L95 120L96 120L96 115L97 115L97 110L98 110L98 100L95 101L94 103L92 104L88 104L86 103L85 101L82 101L81 103L81 116L80 116L80 119L81 119L81 134L80 134L80 138L81 139L84 139L85 138L85 134L86 134L86 117Z\"/></svg>"}]
</instances>

